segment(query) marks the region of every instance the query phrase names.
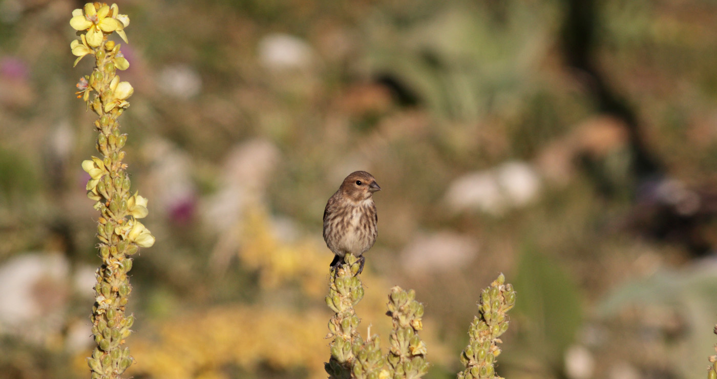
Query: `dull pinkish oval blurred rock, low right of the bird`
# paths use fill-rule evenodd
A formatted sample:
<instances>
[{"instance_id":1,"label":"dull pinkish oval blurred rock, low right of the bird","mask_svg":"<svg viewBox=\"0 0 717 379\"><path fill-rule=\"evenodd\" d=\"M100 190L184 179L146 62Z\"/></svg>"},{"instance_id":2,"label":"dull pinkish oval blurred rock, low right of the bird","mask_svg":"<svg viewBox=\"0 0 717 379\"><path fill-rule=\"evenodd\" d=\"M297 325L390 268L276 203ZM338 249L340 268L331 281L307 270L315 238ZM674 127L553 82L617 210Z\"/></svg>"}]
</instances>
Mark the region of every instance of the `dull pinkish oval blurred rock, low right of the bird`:
<instances>
[{"instance_id":1,"label":"dull pinkish oval blurred rock, low right of the bird","mask_svg":"<svg viewBox=\"0 0 717 379\"><path fill-rule=\"evenodd\" d=\"M401 262L410 274L449 271L470 262L478 253L478 243L452 231L415 236L401 251Z\"/></svg>"}]
</instances>

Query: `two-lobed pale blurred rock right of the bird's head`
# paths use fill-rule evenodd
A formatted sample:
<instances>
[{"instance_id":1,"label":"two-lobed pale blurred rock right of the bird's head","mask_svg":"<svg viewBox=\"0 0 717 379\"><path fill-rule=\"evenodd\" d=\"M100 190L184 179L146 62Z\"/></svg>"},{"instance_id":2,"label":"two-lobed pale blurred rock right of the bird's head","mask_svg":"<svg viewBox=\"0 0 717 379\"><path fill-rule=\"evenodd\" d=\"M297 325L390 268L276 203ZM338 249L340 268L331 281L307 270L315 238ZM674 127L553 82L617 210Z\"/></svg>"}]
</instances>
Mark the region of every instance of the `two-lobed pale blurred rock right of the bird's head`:
<instances>
[{"instance_id":1,"label":"two-lobed pale blurred rock right of the bird's head","mask_svg":"<svg viewBox=\"0 0 717 379\"><path fill-rule=\"evenodd\" d=\"M455 179L445 195L452 211L483 211L494 216L526 206L541 190L541 181L528 163L507 162L486 171Z\"/></svg>"}]
</instances>

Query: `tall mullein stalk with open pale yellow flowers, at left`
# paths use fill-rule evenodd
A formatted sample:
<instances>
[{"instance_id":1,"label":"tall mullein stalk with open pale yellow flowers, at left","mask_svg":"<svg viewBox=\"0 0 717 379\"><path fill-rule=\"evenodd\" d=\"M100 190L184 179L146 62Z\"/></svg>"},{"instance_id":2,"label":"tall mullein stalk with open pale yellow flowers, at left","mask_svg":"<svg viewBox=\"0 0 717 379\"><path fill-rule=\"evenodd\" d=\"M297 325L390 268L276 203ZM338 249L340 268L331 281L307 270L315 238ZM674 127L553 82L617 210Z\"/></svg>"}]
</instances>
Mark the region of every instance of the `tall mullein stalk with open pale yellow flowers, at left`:
<instances>
[{"instance_id":1,"label":"tall mullein stalk with open pale yellow flowers, at left","mask_svg":"<svg viewBox=\"0 0 717 379\"><path fill-rule=\"evenodd\" d=\"M92 357L87 358L92 379L120 378L133 363L129 347L125 347L134 322L133 315L125 315L132 292L127 273L132 269L130 256L140 247L154 244L150 231L138 221L147 216L147 199L130 193L127 165L122 163L127 135L120 133L117 121L134 90L116 75L117 70L127 69L129 62L120 52L120 44L108 40L108 36L114 32L127 42L124 29L129 22L128 16L119 13L117 4L104 3L87 3L72 11L70 19L79 37L70 44L77 56L75 65L86 55L95 58L92 73L77 83L76 95L98 115L95 146L102 155L82 162L82 168L90 174L87 197L95 201L94 208L100 212L97 237L103 260L95 273L95 304L90 316L97 343Z\"/></svg>"}]
</instances>

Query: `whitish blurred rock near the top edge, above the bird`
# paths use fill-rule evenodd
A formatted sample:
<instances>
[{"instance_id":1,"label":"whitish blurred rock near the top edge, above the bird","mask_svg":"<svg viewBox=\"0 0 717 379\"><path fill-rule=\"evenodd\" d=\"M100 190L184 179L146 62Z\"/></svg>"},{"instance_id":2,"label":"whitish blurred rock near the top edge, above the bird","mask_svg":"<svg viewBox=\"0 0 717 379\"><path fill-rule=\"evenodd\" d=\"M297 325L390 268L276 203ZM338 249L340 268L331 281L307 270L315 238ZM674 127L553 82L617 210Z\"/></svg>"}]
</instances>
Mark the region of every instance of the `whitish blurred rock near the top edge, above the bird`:
<instances>
[{"instance_id":1,"label":"whitish blurred rock near the top edge, above the bird","mask_svg":"<svg viewBox=\"0 0 717 379\"><path fill-rule=\"evenodd\" d=\"M261 64L274 72L309 69L315 61L310 45L289 34L267 34L259 41L258 50Z\"/></svg>"}]
</instances>

